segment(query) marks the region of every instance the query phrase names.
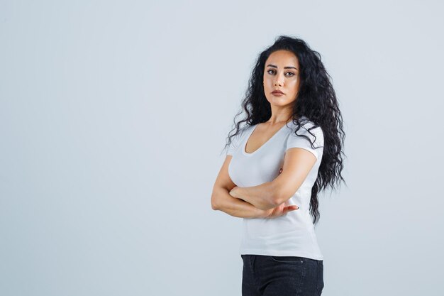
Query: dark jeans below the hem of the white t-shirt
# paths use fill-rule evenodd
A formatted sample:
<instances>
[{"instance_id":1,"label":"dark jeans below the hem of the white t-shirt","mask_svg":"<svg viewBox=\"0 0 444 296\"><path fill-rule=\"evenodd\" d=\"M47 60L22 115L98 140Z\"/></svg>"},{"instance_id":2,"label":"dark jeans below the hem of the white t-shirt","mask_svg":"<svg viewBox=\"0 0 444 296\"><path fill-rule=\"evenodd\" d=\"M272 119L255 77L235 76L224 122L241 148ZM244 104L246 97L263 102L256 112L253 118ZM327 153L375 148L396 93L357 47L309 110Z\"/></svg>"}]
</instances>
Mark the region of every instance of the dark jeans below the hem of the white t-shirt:
<instances>
[{"instance_id":1,"label":"dark jeans below the hem of the white t-shirt","mask_svg":"<svg viewBox=\"0 0 444 296\"><path fill-rule=\"evenodd\" d=\"M242 296L319 296L323 261L294 256L240 255Z\"/></svg>"}]
</instances>

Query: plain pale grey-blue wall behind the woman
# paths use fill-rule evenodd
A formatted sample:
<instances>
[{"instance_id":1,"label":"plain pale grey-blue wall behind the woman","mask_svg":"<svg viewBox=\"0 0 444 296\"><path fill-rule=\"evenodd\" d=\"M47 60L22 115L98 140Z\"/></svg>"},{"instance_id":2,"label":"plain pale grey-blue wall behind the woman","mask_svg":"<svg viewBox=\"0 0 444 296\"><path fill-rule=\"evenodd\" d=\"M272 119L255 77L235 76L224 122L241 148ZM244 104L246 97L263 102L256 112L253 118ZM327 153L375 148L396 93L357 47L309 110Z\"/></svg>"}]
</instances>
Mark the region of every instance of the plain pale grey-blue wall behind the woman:
<instances>
[{"instance_id":1,"label":"plain pale grey-blue wall behind the woman","mask_svg":"<svg viewBox=\"0 0 444 296\"><path fill-rule=\"evenodd\" d=\"M442 295L440 1L0 1L0 295L240 295L211 209L278 35L333 77L348 186L320 196L323 295Z\"/></svg>"}]
</instances>

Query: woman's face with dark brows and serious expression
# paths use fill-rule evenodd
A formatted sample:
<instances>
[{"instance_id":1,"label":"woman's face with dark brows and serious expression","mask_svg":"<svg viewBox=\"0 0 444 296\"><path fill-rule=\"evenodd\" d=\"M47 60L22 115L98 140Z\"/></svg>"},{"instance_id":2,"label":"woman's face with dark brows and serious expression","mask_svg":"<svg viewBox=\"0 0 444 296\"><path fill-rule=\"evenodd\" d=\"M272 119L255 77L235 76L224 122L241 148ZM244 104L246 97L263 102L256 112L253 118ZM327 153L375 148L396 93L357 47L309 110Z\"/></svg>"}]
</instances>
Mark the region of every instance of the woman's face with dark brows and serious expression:
<instances>
[{"instance_id":1,"label":"woman's face with dark brows and serious expression","mask_svg":"<svg viewBox=\"0 0 444 296\"><path fill-rule=\"evenodd\" d=\"M280 90L284 94L273 94ZM286 106L296 100L299 91L299 60L288 50L277 50L265 62L264 92L274 106Z\"/></svg>"}]
</instances>

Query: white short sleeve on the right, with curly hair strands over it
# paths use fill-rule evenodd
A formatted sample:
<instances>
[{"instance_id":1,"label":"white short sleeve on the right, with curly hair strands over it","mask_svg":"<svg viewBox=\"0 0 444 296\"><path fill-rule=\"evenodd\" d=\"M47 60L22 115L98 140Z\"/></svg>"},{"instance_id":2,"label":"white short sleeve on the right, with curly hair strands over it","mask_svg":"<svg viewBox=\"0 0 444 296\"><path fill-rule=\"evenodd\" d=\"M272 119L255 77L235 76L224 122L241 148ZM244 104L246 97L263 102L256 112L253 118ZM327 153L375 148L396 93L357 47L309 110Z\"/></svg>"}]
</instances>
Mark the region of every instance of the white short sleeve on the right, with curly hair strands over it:
<instances>
[{"instance_id":1,"label":"white short sleeve on the right, with curly hair strands over it","mask_svg":"<svg viewBox=\"0 0 444 296\"><path fill-rule=\"evenodd\" d=\"M316 156L316 160L322 156L323 131L321 126L317 126L316 128L312 128L310 131L308 131L312 126L312 123L304 124L304 126L301 126L299 131L296 132L297 135L295 133L296 128L294 128L292 133L290 133L289 137L287 138L287 147L285 150L288 150L289 148L304 148L305 150L309 150L311 153L313 153L313 155ZM311 135L311 133L313 135ZM313 148L311 147L310 141L303 135L307 136L310 141L313 142Z\"/></svg>"}]
</instances>

